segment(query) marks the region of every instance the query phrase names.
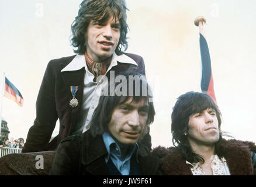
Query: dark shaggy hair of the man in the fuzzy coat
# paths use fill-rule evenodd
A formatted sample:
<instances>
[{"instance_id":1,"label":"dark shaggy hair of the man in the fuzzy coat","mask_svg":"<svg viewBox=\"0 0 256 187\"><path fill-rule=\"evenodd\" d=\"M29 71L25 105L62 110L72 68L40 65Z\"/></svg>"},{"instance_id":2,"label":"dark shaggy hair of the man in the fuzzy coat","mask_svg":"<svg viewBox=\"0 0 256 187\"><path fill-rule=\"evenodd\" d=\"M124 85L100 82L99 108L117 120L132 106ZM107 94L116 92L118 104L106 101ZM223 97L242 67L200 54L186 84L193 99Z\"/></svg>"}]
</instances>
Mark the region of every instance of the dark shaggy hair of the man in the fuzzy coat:
<instances>
[{"instance_id":1,"label":"dark shaggy hair of the man in the fuzzy coat","mask_svg":"<svg viewBox=\"0 0 256 187\"><path fill-rule=\"evenodd\" d=\"M206 109L213 109L216 112L216 116L219 122L219 130L222 124L222 114L215 101L206 93L200 92L187 92L179 96L171 115L171 131L172 131L172 143L175 147L182 150L185 159L189 162L205 162L202 156L195 154L189 144L185 132L188 130L189 116L195 113L203 112ZM224 155L224 147L221 145L223 132L220 131L220 138L215 143L215 154L220 157Z\"/></svg>"}]
</instances>

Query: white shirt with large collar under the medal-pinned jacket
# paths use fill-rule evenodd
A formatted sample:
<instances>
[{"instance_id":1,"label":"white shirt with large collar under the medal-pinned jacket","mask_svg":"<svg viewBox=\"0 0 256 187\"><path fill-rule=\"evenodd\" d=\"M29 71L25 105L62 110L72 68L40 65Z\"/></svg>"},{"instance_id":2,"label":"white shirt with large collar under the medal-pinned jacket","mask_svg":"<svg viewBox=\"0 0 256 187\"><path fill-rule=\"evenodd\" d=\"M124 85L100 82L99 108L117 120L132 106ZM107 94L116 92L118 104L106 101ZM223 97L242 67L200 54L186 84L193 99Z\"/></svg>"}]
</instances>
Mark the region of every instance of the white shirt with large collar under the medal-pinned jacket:
<instances>
[{"instance_id":1,"label":"white shirt with large collar under the medal-pinned jacket","mask_svg":"<svg viewBox=\"0 0 256 187\"><path fill-rule=\"evenodd\" d=\"M109 68L106 71L111 70L112 67L117 65L117 61L119 63L128 63L128 64L134 64L137 65L137 63L130 57L126 56L125 54L122 54L120 56L117 56L117 54L114 52L112 60L110 62ZM81 110L79 113L80 119L78 121L78 124L75 124L75 131L73 134L80 134L84 133L89 129L89 122L91 122L92 115L94 113L94 110L98 106L100 93L102 91L102 84L101 79L98 82L94 82L94 74L92 74L87 67L87 64L85 62L85 56L84 55L77 55L75 58L68 64L61 72L64 71L77 71L81 68L85 68L85 78L84 78L84 95L82 98L82 102L79 102L81 106ZM106 75L106 74L105 74Z\"/></svg>"}]
</instances>

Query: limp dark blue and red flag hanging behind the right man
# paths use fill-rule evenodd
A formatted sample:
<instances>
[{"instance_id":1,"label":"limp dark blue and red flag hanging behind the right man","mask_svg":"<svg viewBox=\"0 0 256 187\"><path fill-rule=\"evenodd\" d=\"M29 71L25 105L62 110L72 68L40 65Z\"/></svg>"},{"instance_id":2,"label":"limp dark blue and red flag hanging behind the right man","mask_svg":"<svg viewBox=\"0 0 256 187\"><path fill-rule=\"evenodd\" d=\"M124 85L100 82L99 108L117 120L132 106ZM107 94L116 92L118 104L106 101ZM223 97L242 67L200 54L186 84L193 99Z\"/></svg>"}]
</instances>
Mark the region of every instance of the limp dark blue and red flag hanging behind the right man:
<instances>
[{"instance_id":1,"label":"limp dark blue and red flag hanging behind the right man","mask_svg":"<svg viewBox=\"0 0 256 187\"><path fill-rule=\"evenodd\" d=\"M213 86L213 75L212 75L212 65L210 62L210 53L207 45L207 41L204 34L200 33L200 53L202 61L202 79L201 79L201 90L202 92L210 95L213 100L217 103L215 97L215 90Z\"/></svg>"}]
</instances>

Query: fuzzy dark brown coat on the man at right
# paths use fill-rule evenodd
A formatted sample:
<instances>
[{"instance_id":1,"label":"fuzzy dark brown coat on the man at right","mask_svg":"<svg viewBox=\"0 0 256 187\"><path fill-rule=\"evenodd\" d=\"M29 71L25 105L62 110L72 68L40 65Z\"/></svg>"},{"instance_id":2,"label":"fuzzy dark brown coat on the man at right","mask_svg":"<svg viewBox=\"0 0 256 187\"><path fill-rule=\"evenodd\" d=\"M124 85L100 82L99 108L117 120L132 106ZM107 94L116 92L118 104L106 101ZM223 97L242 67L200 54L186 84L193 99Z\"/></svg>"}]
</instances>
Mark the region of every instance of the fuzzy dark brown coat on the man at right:
<instances>
[{"instance_id":1,"label":"fuzzy dark brown coat on the man at right","mask_svg":"<svg viewBox=\"0 0 256 187\"><path fill-rule=\"evenodd\" d=\"M226 148L224 158L231 175L255 175L256 174L256 146L249 141L223 140ZM160 171L163 175L192 175L191 168L186 164L182 151L176 147L157 147L153 150L157 156ZM254 164L252 164L252 159Z\"/></svg>"}]
</instances>

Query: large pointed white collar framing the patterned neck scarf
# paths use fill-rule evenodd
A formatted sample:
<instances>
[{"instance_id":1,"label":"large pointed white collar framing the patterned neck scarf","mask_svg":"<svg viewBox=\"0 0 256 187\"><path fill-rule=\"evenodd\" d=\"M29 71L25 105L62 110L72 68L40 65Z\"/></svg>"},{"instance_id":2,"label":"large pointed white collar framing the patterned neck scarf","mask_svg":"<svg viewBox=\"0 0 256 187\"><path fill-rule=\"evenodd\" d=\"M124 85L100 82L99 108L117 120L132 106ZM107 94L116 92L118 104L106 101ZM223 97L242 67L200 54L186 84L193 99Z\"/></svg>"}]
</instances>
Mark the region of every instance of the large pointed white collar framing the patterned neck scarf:
<instances>
[{"instance_id":1,"label":"large pointed white collar framing the patterned neck scarf","mask_svg":"<svg viewBox=\"0 0 256 187\"><path fill-rule=\"evenodd\" d=\"M113 57L111 60L111 63L109 65L108 71L113 67L117 65L117 61L119 63L127 63L127 64L134 64L137 65L137 63L130 57L126 56L125 54L121 54L120 56L117 56L117 54L114 52ZM85 56L84 54L78 54L75 56L75 58L66 66L64 67L61 72L64 71L77 71L81 68L85 67L85 70L88 71L88 67L85 63Z\"/></svg>"}]
</instances>

